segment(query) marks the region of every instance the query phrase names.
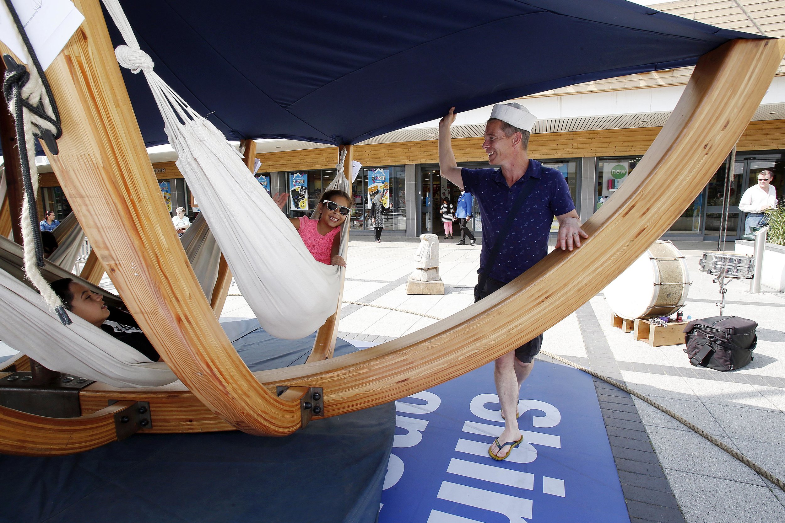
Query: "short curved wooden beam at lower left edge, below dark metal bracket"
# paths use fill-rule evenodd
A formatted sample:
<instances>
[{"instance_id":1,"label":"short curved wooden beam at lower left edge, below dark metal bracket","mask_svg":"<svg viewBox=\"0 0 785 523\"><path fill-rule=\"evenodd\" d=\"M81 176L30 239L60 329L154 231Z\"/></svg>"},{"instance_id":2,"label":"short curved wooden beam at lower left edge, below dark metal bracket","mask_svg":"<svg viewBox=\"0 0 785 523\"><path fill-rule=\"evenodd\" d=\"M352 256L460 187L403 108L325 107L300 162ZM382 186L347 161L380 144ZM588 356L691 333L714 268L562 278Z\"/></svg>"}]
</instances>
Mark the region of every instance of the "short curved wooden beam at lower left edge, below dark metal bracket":
<instances>
[{"instance_id":1,"label":"short curved wooden beam at lower left edge, below dark metal bracket","mask_svg":"<svg viewBox=\"0 0 785 523\"><path fill-rule=\"evenodd\" d=\"M118 401L78 418L47 418L0 406L0 452L20 456L64 456L117 441L115 412L133 405Z\"/></svg>"}]
</instances>

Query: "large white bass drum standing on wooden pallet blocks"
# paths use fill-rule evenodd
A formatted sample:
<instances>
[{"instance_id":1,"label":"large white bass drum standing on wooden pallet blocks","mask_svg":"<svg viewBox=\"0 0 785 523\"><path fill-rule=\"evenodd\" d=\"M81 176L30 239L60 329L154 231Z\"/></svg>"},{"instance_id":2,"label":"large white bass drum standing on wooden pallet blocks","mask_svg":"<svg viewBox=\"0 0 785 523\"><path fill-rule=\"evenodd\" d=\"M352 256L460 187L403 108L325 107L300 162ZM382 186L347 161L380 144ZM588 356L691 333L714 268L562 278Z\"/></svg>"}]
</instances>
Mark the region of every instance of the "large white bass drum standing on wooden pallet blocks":
<instances>
[{"instance_id":1,"label":"large white bass drum standing on wooden pallet blocks","mask_svg":"<svg viewBox=\"0 0 785 523\"><path fill-rule=\"evenodd\" d=\"M658 241L644 252L603 294L617 316L670 316L684 307L691 281L685 257L671 242Z\"/></svg>"}]
</instances>

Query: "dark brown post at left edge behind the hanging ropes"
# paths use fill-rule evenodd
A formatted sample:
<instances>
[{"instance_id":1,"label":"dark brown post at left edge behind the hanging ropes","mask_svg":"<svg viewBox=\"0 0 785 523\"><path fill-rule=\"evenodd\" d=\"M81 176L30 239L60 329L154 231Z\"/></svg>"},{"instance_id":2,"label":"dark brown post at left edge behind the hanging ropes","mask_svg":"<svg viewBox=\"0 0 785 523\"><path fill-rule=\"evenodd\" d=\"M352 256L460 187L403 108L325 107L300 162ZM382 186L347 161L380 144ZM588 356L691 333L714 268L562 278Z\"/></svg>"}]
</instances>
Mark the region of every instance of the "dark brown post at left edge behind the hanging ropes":
<instances>
[{"instance_id":1,"label":"dark brown post at left edge behind the hanging ropes","mask_svg":"<svg viewBox=\"0 0 785 523\"><path fill-rule=\"evenodd\" d=\"M5 77L5 62L0 60L0 78ZM22 182L22 166L19 159L19 147L16 146L16 123L0 94L0 142L2 142L2 158L5 164L5 194L8 199L13 241L22 245L22 201L24 199L24 183ZM5 205L4 205L5 207ZM3 234L4 236L6 234Z\"/></svg>"}]
</instances>

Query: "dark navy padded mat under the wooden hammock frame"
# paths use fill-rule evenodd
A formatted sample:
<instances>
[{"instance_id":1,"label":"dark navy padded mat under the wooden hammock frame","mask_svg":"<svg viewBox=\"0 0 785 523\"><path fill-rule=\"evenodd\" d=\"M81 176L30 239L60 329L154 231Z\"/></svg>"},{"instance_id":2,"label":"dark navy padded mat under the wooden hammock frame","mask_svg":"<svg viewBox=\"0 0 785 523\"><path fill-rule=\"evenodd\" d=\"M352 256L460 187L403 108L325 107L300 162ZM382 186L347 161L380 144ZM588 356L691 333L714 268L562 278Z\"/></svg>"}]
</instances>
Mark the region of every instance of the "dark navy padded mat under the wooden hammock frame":
<instances>
[{"instance_id":1,"label":"dark navy padded mat under the wooden hammock frame","mask_svg":"<svg viewBox=\"0 0 785 523\"><path fill-rule=\"evenodd\" d=\"M252 370L305 361L313 337L224 325ZM356 350L338 340L336 354ZM135 434L74 456L0 456L2 523L373 523L395 430L392 403L312 421L286 438Z\"/></svg>"}]
</instances>

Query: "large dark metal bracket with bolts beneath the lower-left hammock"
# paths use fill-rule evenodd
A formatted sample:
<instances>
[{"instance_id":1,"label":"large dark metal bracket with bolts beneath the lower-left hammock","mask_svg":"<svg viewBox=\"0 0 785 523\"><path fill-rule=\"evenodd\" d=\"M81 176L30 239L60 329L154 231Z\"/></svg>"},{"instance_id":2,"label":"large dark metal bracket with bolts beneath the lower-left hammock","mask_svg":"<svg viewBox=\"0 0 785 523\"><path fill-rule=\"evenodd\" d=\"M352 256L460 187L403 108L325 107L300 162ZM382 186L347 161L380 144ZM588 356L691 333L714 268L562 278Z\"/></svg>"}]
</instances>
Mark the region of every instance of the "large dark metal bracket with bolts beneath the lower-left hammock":
<instances>
[{"instance_id":1,"label":"large dark metal bracket with bolts beneath the lower-left hammock","mask_svg":"<svg viewBox=\"0 0 785 523\"><path fill-rule=\"evenodd\" d=\"M13 372L0 378L0 405L48 418L82 416L79 390L93 380L61 374L49 383L36 383L34 377L32 372Z\"/></svg>"}]
</instances>

